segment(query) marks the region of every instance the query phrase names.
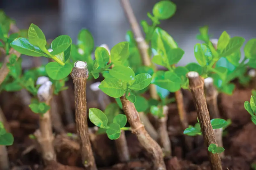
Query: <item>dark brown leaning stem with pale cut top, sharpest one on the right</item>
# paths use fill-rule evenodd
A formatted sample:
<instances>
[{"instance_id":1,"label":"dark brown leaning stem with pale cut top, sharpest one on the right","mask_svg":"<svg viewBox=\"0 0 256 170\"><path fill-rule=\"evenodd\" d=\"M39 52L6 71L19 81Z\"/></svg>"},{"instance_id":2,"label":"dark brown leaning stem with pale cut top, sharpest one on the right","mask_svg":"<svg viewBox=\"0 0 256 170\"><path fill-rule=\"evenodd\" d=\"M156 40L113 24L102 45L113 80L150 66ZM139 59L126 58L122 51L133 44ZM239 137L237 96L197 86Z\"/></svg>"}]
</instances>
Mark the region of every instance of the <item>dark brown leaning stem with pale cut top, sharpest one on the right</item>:
<instances>
[{"instance_id":1,"label":"dark brown leaning stem with pale cut top, sharpest one on the right","mask_svg":"<svg viewBox=\"0 0 256 170\"><path fill-rule=\"evenodd\" d=\"M197 72L194 71L188 72L187 77L189 79L189 89L192 93L198 120L203 133L204 144L208 148L210 144L217 144L217 142L213 134L210 115L204 96L204 80L200 78ZM208 157L211 163L212 170L222 170L219 154L213 154L212 152L208 152Z\"/></svg>"}]
</instances>

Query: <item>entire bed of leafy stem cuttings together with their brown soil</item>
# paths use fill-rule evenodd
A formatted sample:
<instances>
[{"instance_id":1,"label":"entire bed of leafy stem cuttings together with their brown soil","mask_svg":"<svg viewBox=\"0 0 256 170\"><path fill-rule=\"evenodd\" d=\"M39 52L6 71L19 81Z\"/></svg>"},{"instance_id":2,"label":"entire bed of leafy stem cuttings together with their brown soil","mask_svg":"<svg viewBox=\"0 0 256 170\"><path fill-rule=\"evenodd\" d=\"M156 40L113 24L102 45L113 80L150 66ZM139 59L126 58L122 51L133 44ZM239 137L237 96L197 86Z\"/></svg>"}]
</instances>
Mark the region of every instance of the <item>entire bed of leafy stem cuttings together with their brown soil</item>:
<instances>
[{"instance_id":1,"label":"entire bed of leafy stem cuttings together with their brown soil","mask_svg":"<svg viewBox=\"0 0 256 170\"><path fill-rule=\"evenodd\" d=\"M0 11L0 170L256 170L256 39L241 56L244 38L200 27L197 63L177 66L159 27L176 5L157 2L151 24L120 6L131 31L111 49L88 29L46 41Z\"/></svg>"}]
</instances>

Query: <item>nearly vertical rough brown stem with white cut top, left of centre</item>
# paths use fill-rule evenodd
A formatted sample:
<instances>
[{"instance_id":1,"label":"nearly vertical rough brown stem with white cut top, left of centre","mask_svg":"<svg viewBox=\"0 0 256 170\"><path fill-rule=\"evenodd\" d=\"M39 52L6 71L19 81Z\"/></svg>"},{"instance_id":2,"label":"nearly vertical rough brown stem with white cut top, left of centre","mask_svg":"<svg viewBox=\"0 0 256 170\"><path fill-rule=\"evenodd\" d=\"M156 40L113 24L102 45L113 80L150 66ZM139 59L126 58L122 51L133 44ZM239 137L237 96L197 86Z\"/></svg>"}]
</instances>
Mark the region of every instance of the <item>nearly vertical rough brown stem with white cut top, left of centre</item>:
<instances>
[{"instance_id":1,"label":"nearly vertical rough brown stem with white cut top, left of centre","mask_svg":"<svg viewBox=\"0 0 256 170\"><path fill-rule=\"evenodd\" d=\"M97 170L95 159L92 153L90 136L88 133L87 123L87 106L86 106L86 82L88 78L87 64L76 62L71 72L71 77L75 88L76 104L76 130L80 140L82 163L88 170Z\"/></svg>"}]
</instances>

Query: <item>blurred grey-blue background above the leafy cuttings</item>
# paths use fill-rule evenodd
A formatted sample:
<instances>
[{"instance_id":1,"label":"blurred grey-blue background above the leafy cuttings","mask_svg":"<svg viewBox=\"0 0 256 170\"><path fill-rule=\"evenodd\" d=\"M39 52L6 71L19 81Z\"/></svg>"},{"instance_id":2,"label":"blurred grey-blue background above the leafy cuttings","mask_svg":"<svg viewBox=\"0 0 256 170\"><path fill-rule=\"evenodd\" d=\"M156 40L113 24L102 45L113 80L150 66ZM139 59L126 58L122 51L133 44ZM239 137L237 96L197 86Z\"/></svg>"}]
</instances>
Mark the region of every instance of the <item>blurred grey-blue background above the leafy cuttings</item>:
<instances>
[{"instance_id":1,"label":"blurred grey-blue background above the leafy cuttings","mask_svg":"<svg viewBox=\"0 0 256 170\"><path fill-rule=\"evenodd\" d=\"M159 0L130 0L137 20L145 19L147 12ZM248 41L256 38L256 1L253 0L173 0L176 14L160 27L166 30L185 51L179 65L196 62L194 45L200 26L208 25L212 38L223 31L231 37L242 36ZM60 34L69 35L73 42L81 28L92 33L95 45L106 43L110 48L125 41L130 26L119 0L0 0L0 8L15 19L20 29L31 23L39 26L46 39ZM151 23L151 22L149 22ZM243 54L243 53L242 53ZM27 63L29 64L30 60Z\"/></svg>"}]
</instances>

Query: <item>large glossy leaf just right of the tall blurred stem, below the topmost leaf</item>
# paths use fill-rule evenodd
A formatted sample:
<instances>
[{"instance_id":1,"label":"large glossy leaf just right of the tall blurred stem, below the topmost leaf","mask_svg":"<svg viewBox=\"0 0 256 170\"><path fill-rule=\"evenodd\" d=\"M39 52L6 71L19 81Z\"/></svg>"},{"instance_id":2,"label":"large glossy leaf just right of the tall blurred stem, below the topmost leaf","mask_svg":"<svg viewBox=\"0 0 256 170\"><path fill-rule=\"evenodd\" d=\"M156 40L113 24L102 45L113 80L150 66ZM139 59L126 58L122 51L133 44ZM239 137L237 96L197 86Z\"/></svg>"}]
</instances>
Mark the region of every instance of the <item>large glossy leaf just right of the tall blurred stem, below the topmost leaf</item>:
<instances>
[{"instance_id":1,"label":"large glossy leaf just right of the tall blurred stem, below the topmost leaf","mask_svg":"<svg viewBox=\"0 0 256 170\"><path fill-rule=\"evenodd\" d=\"M178 48L173 38L163 29L157 27L152 35L152 52L154 55L167 57L171 48Z\"/></svg>"}]
</instances>

